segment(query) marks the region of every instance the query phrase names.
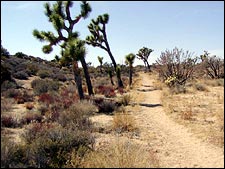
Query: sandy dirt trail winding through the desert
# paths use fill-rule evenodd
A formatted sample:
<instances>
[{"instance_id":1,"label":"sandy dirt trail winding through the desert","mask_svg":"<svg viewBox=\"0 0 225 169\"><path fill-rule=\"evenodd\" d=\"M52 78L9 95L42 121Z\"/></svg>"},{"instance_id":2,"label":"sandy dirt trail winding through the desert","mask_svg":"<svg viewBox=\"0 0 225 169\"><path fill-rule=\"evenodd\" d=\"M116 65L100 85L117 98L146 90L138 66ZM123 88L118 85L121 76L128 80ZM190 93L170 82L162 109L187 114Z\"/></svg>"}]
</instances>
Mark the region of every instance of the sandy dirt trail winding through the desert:
<instances>
[{"instance_id":1,"label":"sandy dirt trail winding through the desert","mask_svg":"<svg viewBox=\"0 0 225 169\"><path fill-rule=\"evenodd\" d=\"M131 92L140 111L131 113L140 129L139 139L157 152L160 167L223 168L223 150L202 142L187 128L172 121L161 105L161 91L153 88L154 78L144 73L140 77L140 84Z\"/></svg>"}]
</instances>

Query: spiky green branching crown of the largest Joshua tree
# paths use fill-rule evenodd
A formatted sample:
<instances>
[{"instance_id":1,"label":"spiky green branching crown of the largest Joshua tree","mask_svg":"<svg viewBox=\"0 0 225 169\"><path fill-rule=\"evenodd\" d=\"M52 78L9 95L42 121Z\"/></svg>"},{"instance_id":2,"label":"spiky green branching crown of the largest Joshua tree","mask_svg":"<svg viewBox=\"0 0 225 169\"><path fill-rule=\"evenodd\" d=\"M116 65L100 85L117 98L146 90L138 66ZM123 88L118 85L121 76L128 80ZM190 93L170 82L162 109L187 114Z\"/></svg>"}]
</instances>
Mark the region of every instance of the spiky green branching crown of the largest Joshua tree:
<instances>
[{"instance_id":1,"label":"spiky green branching crown of the largest Joshua tree","mask_svg":"<svg viewBox=\"0 0 225 169\"><path fill-rule=\"evenodd\" d=\"M71 18L70 9L73 6L73 2L71 1L57 1L51 7L50 3L45 3L45 15L48 17L49 22L53 24L57 32L57 36L52 32L48 31L38 31L35 29L33 31L34 37L36 37L41 42L46 41L48 45L43 46L42 50L44 53L52 52L54 45L60 45L61 48L66 47L66 43L71 41L71 39L78 38L78 32L73 32L74 25L81 19L87 18L89 13L91 12L91 7L86 1L82 1L80 5L80 14L76 16L74 19ZM67 26L65 23L68 21L69 25ZM64 36L62 31L66 31L68 36Z\"/></svg>"}]
</instances>

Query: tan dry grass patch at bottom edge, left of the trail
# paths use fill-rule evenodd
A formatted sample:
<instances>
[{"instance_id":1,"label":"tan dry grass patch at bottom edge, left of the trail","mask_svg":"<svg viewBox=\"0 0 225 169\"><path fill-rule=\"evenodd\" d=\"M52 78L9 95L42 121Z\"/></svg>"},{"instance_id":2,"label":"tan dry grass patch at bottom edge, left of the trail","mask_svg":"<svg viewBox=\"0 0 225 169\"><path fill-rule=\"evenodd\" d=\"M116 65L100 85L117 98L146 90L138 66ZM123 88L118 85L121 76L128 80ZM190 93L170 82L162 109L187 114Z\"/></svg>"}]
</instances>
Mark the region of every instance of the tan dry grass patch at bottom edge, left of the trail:
<instances>
[{"instance_id":1,"label":"tan dry grass patch at bottom edge, left of the trail","mask_svg":"<svg viewBox=\"0 0 225 169\"><path fill-rule=\"evenodd\" d=\"M129 141L113 142L89 153L84 168L157 168L158 160L151 150Z\"/></svg>"}]
</instances>

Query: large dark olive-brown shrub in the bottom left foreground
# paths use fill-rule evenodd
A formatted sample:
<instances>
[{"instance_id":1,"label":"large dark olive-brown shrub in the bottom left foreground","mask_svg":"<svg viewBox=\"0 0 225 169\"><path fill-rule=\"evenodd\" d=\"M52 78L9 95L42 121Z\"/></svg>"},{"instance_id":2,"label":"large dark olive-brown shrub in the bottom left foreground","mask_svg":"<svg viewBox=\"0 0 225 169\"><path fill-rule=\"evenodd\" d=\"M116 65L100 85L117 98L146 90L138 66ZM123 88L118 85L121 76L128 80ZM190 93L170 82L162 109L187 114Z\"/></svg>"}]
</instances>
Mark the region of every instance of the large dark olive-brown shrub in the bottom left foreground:
<instances>
[{"instance_id":1,"label":"large dark olive-brown shrub in the bottom left foreground","mask_svg":"<svg viewBox=\"0 0 225 169\"><path fill-rule=\"evenodd\" d=\"M57 123L32 124L24 136L30 144L29 160L33 167L41 168L62 168L73 149L83 147L88 150L94 143L90 133L65 129Z\"/></svg>"}]
</instances>

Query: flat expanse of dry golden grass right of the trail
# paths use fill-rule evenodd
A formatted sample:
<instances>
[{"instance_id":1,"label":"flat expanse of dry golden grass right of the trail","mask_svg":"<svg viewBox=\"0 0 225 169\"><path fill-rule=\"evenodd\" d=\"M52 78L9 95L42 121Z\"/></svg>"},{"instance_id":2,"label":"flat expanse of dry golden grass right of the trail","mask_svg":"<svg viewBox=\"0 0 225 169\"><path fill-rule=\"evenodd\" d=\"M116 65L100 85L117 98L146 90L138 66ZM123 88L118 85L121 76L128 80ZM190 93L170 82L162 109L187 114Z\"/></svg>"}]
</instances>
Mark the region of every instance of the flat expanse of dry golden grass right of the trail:
<instances>
[{"instance_id":1,"label":"flat expanse of dry golden grass right of the trail","mask_svg":"<svg viewBox=\"0 0 225 169\"><path fill-rule=\"evenodd\" d=\"M165 111L175 121L199 138L224 147L224 87L220 83L219 79L198 80L197 85L188 86L187 90L192 92L174 95L164 88L161 99Z\"/></svg>"}]
</instances>

